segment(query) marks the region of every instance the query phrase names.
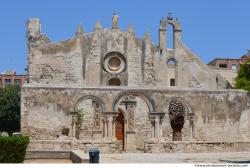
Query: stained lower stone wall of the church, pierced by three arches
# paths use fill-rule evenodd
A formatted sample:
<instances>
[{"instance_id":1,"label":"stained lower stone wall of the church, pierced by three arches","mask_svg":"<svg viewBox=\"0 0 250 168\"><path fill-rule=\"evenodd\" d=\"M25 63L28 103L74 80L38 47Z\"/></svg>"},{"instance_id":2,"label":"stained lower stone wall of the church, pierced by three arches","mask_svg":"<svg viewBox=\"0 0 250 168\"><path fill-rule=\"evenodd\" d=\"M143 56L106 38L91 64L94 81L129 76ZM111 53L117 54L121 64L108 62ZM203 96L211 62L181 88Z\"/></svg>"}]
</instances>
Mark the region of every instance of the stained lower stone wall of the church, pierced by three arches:
<instances>
[{"instance_id":1,"label":"stained lower stone wall of the church, pierced by three arches","mask_svg":"<svg viewBox=\"0 0 250 168\"><path fill-rule=\"evenodd\" d=\"M185 122L182 129L183 140L197 141L247 141L249 140L249 105L247 94L241 91L205 90L164 90L164 89L122 89L122 88L61 88L25 87L22 90L22 132L33 139L58 139L63 128L71 127L70 112L81 98L88 95L98 97L103 111L113 111L120 99L119 95L134 95L137 100L135 110L135 130L147 135L148 114L164 112L162 132L164 140L172 140L168 105L178 98L185 106ZM145 107L148 102L153 107ZM105 107L104 107L105 106ZM90 106L91 107L91 106ZM91 107L92 108L92 107ZM149 112L148 112L149 111ZM190 126L189 114L194 114ZM88 115L86 115L88 116ZM92 116L93 117L93 116ZM85 118L92 120L91 117ZM92 124L91 124L92 125ZM88 125L86 127L91 127ZM193 132L190 130L193 128ZM138 136L139 136L138 134ZM143 137L142 137L143 138ZM144 137L145 138L145 137ZM138 139L140 141L140 139Z\"/></svg>"}]
</instances>

